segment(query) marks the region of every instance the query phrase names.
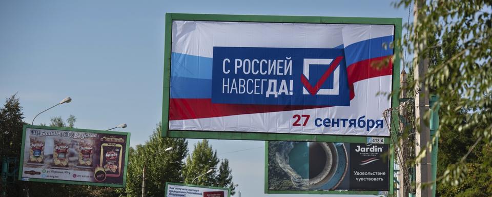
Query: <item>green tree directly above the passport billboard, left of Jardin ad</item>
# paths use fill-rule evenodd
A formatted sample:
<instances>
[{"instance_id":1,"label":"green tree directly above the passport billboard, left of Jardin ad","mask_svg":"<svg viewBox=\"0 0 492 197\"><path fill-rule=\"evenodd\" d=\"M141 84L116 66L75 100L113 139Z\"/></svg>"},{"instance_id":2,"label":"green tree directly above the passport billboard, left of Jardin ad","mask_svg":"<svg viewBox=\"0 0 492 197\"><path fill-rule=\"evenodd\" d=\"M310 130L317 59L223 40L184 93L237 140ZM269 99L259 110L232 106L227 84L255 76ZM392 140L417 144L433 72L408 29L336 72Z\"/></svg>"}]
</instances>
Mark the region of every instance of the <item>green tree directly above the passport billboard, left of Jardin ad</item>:
<instances>
[{"instance_id":1,"label":"green tree directly above the passport billboard, left of Jardin ad","mask_svg":"<svg viewBox=\"0 0 492 197\"><path fill-rule=\"evenodd\" d=\"M209 141L198 142L194 146L193 153L188 154L186 158L186 167L183 170L185 183L231 188L231 194L234 194L235 186L232 182L229 160L223 160L217 171L218 164L217 151L213 150ZM207 173L209 170L212 171Z\"/></svg>"}]
</instances>

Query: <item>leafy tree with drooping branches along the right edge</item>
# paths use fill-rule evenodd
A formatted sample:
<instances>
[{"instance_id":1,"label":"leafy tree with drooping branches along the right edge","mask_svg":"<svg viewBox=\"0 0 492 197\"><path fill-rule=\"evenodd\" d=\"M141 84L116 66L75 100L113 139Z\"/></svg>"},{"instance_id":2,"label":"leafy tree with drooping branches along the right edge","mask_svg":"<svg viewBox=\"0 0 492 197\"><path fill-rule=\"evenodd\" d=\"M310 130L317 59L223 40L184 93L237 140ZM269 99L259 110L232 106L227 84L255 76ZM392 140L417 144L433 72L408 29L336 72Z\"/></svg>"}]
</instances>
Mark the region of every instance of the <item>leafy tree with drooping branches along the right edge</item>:
<instances>
[{"instance_id":1,"label":"leafy tree with drooping branches along the right edge","mask_svg":"<svg viewBox=\"0 0 492 197\"><path fill-rule=\"evenodd\" d=\"M418 10L422 17L416 25L406 25L408 40L403 44L406 51L418 50L419 58L427 57L431 63L422 80L408 87L422 83L439 96L441 127L436 135L441 136L442 142L438 169L442 183L438 193L491 195L485 186L492 178L492 163L488 162L492 145L492 3L423 2ZM402 0L396 6L408 7L412 3ZM439 51L441 60L434 58ZM440 193L443 190L439 187L449 192Z\"/></svg>"}]
</instances>

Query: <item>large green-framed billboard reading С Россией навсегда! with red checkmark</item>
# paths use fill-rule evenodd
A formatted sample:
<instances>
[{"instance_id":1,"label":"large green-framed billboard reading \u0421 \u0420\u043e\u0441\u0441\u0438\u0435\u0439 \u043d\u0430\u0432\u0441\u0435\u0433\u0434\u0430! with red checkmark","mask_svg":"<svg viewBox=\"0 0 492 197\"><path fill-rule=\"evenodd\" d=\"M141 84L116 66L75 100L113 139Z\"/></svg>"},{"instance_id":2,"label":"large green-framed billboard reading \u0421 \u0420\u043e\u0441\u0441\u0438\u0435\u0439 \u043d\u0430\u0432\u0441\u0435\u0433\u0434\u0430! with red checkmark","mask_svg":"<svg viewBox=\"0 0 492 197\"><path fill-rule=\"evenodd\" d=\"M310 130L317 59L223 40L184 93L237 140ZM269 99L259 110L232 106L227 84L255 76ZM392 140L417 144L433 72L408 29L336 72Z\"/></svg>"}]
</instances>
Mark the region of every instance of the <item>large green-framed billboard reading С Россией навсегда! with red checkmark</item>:
<instances>
[{"instance_id":1,"label":"large green-framed billboard reading \u0421 \u0420\u043e\u0441\u0441\u0438\u0435\u0439 \u043d\u0430\u0432\u0441\u0435\u0433\u0434\u0430! with red checkmark","mask_svg":"<svg viewBox=\"0 0 492 197\"><path fill-rule=\"evenodd\" d=\"M166 23L164 136L390 135L382 112L398 103L388 95L400 18L168 13Z\"/></svg>"}]
</instances>

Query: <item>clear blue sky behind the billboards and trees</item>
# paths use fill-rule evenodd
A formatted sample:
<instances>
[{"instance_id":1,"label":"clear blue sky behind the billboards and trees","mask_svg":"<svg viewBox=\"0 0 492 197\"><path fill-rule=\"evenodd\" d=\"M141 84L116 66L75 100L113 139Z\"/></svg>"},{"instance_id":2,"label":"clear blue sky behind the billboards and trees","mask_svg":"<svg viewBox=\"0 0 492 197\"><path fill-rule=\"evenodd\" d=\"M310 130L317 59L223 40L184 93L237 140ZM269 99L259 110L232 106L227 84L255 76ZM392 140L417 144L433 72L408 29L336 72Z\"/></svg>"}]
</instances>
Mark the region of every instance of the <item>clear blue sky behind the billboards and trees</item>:
<instances>
[{"instance_id":1,"label":"clear blue sky behind the billboards and trees","mask_svg":"<svg viewBox=\"0 0 492 197\"><path fill-rule=\"evenodd\" d=\"M126 123L131 145L144 143L161 120L166 12L408 19L391 1L0 1L0 98L17 93L30 123L70 96L34 124L70 114L77 128ZM263 194L263 141L211 142L242 196L279 196Z\"/></svg>"}]
</instances>

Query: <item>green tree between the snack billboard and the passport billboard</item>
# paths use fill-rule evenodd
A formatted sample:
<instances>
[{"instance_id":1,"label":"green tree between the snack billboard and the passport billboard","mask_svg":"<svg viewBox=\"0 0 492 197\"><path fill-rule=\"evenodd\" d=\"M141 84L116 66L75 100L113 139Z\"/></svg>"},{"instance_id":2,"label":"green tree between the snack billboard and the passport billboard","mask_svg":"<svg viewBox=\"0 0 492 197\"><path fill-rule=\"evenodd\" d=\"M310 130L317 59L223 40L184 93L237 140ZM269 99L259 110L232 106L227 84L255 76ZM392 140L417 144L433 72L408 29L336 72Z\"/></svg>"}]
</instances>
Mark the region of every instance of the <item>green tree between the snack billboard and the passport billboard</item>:
<instances>
[{"instance_id":1,"label":"green tree between the snack billboard and the passport billboard","mask_svg":"<svg viewBox=\"0 0 492 197\"><path fill-rule=\"evenodd\" d=\"M183 182L181 170L185 166L183 160L188 153L188 142L185 139L171 139L160 136L159 123L144 145L130 148L127 171L127 196L139 196L142 189L142 169L146 167L146 194L148 196L164 196L166 182ZM164 151L173 147L171 151Z\"/></svg>"}]
</instances>

